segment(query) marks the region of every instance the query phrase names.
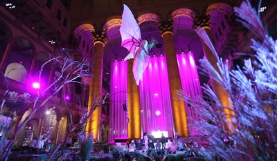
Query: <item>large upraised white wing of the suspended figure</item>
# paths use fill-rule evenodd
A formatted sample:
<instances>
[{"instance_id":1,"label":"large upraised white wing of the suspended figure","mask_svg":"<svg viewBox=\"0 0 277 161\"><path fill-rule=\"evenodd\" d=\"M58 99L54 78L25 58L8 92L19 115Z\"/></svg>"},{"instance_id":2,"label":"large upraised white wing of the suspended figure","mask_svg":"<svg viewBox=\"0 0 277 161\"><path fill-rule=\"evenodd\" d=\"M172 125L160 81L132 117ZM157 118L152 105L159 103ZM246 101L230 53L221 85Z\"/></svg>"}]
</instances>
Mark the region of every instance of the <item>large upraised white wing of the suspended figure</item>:
<instances>
[{"instance_id":1,"label":"large upraised white wing of the suspended figure","mask_svg":"<svg viewBox=\"0 0 277 161\"><path fill-rule=\"evenodd\" d=\"M127 48L130 52L125 57L125 60L127 60L134 58L136 48L141 42L141 29L128 6L125 4L123 6L122 23L119 31L121 35L121 46Z\"/></svg>"}]
</instances>

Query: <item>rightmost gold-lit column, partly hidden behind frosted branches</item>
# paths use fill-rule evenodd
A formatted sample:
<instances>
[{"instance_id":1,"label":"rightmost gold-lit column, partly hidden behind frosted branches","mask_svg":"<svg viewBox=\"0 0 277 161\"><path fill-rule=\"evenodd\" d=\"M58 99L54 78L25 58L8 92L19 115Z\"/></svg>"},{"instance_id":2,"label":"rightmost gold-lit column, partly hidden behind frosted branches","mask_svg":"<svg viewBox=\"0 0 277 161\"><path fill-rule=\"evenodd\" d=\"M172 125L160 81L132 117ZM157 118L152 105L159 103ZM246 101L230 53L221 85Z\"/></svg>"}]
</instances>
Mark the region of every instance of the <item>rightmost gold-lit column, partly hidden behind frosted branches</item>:
<instances>
[{"instance_id":1,"label":"rightmost gold-lit column, partly hidden behind frosted branches","mask_svg":"<svg viewBox=\"0 0 277 161\"><path fill-rule=\"evenodd\" d=\"M198 26L200 26L201 27L200 30L205 30L208 37L211 39L213 46L215 46L215 42L213 41L213 37L211 36L210 18L211 18L211 15L204 15L204 16L202 15L202 16L196 17L194 28L197 28ZM213 68L215 68L215 70L217 70L217 72L220 73L220 70L217 67L217 58L215 57L211 49L208 48L208 46L204 43L202 39L201 39L201 42L202 42L202 48L206 59L208 59L208 61L210 61L211 65L213 66ZM230 108L233 106L229 101L229 97L230 97L229 93L213 79L211 79L211 85L212 85L213 91L215 92L215 95L220 100L220 103L225 107L224 112L226 113L226 119L231 123L232 122L231 115L233 115L234 113L233 111L228 109L228 107ZM229 128L229 126L227 127ZM231 131L230 128L229 130Z\"/></svg>"}]
</instances>

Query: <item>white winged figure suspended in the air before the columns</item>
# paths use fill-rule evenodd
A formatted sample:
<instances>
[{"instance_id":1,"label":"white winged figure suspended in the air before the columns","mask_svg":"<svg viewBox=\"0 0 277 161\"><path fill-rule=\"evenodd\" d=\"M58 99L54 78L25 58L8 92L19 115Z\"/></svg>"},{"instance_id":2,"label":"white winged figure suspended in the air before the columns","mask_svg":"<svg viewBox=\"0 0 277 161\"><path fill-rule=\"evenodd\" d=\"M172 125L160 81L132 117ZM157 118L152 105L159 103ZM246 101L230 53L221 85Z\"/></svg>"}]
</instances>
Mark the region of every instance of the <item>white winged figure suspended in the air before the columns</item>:
<instances>
[{"instance_id":1,"label":"white winged figure suspended in the air before the columns","mask_svg":"<svg viewBox=\"0 0 277 161\"><path fill-rule=\"evenodd\" d=\"M154 46L148 45L147 40L141 40L141 29L139 24L134 19L131 10L124 4L122 14L122 24L120 26L121 46L129 50L129 54L125 57L127 59L134 59L133 74L136 85L143 80L143 72L148 66L148 49Z\"/></svg>"}]
</instances>

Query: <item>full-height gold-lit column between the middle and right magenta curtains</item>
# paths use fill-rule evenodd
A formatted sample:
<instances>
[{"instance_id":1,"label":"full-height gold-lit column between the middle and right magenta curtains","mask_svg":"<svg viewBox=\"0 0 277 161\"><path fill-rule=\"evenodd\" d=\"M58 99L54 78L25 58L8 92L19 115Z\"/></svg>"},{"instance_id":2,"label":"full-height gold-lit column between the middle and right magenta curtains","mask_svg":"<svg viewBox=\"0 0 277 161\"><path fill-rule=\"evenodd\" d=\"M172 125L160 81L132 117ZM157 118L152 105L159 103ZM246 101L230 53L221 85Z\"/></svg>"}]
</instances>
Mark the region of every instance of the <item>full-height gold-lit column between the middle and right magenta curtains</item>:
<instances>
[{"instance_id":1,"label":"full-height gold-lit column between the middle and right magenta curtains","mask_svg":"<svg viewBox=\"0 0 277 161\"><path fill-rule=\"evenodd\" d=\"M186 106L184 101L177 99L177 90L181 89L181 79L175 53L173 40L173 20L159 22L161 37L163 37L163 46L166 53L166 63L168 66L168 79L170 86L170 98L173 113L175 132L181 137L188 136L188 121L186 117Z\"/></svg>"}]
</instances>

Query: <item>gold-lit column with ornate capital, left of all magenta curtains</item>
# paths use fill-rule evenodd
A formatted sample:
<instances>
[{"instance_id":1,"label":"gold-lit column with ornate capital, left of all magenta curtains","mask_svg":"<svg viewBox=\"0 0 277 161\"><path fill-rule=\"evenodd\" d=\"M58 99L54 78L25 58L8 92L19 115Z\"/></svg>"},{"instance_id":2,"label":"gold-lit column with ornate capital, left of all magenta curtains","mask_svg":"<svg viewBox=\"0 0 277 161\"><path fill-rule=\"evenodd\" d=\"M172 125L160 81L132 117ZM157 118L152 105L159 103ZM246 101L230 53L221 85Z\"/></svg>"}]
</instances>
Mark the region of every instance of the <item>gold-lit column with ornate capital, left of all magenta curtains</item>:
<instances>
[{"instance_id":1,"label":"gold-lit column with ornate capital, left of all magenta curtains","mask_svg":"<svg viewBox=\"0 0 277 161\"><path fill-rule=\"evenodd\" d=\"M88 110L93 108L93 104L101 101L102 97L102 71L103 71L103 55L104 46L108 41L106 32L104 30L92 32L93 44L94 44L94 55L95 59L92 63L91 84L89 86L89 105ZM93 132L95 139L99 140L100 133L100 116L102 106L98 106L92 113L91 117L87 122L87 134Z\"/></svg>"}]
</instances>

